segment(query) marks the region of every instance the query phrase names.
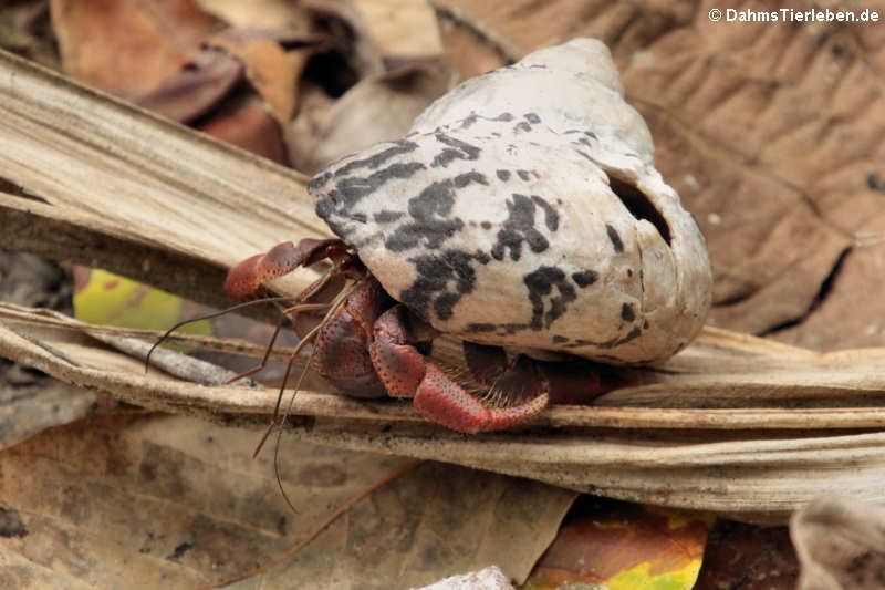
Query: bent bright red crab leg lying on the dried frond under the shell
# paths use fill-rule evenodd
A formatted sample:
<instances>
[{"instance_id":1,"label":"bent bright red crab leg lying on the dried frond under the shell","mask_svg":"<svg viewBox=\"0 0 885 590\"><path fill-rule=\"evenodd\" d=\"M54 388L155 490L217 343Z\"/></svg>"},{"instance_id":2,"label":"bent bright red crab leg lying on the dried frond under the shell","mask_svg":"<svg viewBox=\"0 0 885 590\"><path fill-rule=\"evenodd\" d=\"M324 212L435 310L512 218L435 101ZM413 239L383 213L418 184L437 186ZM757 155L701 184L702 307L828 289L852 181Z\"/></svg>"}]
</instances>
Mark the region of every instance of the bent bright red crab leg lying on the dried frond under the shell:
<instances>
[{"instance_id":1,"label":"bent bright red crab leg lying on the dried frond under the shell","mask_svg":"<svg viewBox=\"0 0 885 590\"><path fill-rule=\"evenodd\" d=\"M413 397L415 408L429 420L468 434L508 428L546 406L548 395L541 391L517 405L487 406L415 349L414 344L429 341L431 334L421 333L425 330L409 324L404 306L391 308L375 322L369 354L389 395Z\"/></svg>"}]
</instances>

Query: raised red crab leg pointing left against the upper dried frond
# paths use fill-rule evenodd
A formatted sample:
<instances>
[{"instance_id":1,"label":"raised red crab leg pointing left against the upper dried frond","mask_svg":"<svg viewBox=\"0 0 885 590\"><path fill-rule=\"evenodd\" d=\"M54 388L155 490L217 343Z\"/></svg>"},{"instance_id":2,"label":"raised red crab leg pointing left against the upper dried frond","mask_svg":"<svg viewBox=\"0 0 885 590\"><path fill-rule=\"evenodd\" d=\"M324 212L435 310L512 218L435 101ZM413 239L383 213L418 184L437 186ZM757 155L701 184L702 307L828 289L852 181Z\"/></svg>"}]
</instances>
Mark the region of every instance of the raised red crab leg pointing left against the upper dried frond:
<instances>
[{"instance_id":1,"label":"raised red crab leg pointing left against the upper dried frond","mask_svg":"<svg viewBox=\"0 0 885 590\"><path fill-rule=\"evenodd\" d=\"M267 253L249 257L230 269L225 291L237 301L246 301L254 296L263 282L327 258L329 247L337 245L341 245L341 240L313 238L304 238L298 246L291 241L279 244Z\"/></svg>"}]
</instances>

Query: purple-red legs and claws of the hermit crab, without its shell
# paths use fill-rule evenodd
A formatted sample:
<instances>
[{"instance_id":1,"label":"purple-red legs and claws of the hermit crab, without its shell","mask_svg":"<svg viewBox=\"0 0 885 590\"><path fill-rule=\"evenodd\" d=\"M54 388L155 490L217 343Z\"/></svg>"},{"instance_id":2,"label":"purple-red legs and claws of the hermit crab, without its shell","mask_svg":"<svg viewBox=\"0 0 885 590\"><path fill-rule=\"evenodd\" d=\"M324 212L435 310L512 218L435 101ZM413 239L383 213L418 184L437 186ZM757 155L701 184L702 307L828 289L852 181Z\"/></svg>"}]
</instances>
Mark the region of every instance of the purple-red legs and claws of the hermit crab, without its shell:
<instances>
[{"instance_id":1,"label":"purple-red legs and claws of the hermit crab, without its shell","mask_svg":"<svg viewBox=\"0 0 885 590\"><path fill-rule=\"evenodd\" d=\"M419 351L439 333L387 294L337 239L280 244L240 262L225 288L235 299L246 300L266 281L323 259L332 269L300 294L299 303L311 302L334 279L347 279L352 287L329 311L295 312L293 324L302 337L316 328L312 368L347 395L412 397L433 422L478 433L521 424L549 403L579 403L625 384L616 383L618 377L604 383L601 375L611 370L583 359L541 362L519 355L508 361L501 348L465 342L473 380L489 390L479 397L470 394Z\"/></svg>"}]
</instances>

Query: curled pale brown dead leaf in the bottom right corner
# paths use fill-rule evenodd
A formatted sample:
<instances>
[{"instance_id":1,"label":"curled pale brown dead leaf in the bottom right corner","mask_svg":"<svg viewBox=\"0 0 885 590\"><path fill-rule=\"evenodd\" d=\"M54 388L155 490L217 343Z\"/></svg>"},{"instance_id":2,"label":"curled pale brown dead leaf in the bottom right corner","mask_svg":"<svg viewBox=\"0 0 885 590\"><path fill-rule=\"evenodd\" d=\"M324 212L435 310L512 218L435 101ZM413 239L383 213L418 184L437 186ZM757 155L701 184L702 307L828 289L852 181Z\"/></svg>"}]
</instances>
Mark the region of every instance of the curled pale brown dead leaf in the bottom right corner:
<instances>
[{"instance_id":1,"label":"curled pale brown dead leaf in the bottom right corner","mask_svg":"<svg viewBox=\"0 0 885 590\"><path fill-rule=\"evenodd\" d=\"M802 571L798 590L885 588L885 505L821 498L790 521Z\"/></svg>"}]
</instances>

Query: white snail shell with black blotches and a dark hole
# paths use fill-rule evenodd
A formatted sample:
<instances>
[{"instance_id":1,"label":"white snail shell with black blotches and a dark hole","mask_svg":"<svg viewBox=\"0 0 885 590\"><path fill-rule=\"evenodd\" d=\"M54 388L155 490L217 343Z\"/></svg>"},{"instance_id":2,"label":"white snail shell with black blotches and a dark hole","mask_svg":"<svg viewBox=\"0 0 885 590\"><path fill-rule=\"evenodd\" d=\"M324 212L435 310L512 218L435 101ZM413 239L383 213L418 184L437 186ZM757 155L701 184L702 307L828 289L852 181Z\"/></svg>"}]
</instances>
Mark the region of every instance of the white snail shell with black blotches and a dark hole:
<instances>
[{"instance_id":1,"label":"white snail shell with black blotches and a dark hole","mask_svg":"<svg viewBox=\"0 0 885 590\"><path fill-rule=\"evenodd\" d=\"M309 189L391 296L465 340L647 363L710 307L704 236L593 39L469 80Z\"/></svg>"}]
</instances>

